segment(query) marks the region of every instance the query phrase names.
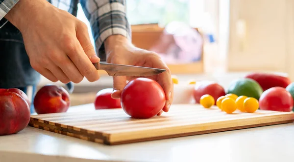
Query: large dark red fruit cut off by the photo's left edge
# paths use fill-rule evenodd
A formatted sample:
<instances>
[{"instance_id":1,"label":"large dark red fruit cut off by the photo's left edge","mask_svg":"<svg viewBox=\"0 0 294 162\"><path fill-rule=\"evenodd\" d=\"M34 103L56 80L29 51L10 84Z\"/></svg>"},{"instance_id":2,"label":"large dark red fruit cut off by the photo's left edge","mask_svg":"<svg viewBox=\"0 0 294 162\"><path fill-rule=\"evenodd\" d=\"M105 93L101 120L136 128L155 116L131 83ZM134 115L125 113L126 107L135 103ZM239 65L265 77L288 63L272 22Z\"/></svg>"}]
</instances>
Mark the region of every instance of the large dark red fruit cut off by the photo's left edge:
<instances>
[{"instance_id":1,"label":"large dark red fruit cut off by the photo's left edge","mask_svg":"<svg viewBox=\"0 0 294 162\"><path fill-rule=\"evenodd\" d=\"M30 119L28 103L15 92L0 92L0 135L18 133Z\"/></svg>"}]
</instances>

